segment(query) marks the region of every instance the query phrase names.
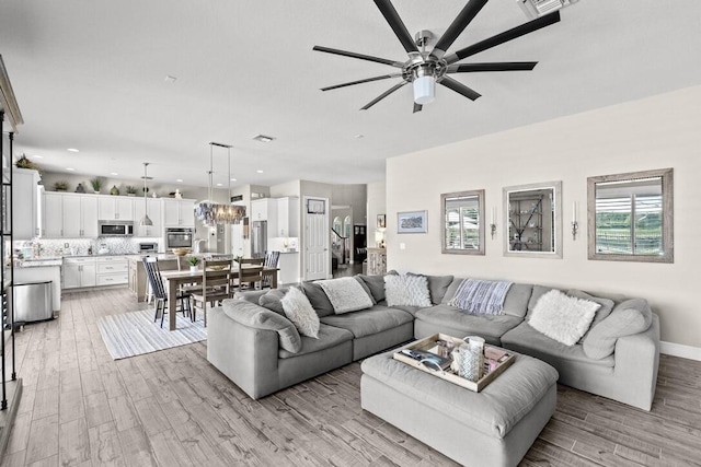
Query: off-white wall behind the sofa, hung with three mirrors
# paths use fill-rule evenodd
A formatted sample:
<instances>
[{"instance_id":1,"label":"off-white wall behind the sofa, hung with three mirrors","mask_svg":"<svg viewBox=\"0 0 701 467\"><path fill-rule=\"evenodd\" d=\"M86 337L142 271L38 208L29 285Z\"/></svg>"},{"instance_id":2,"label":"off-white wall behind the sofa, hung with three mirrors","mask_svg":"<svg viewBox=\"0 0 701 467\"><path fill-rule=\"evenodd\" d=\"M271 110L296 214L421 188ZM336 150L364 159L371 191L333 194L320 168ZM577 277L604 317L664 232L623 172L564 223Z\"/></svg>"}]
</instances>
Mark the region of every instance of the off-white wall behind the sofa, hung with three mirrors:
<instances>
[{"instance_id":1,"label":"off-white wall behind the sofa, hung with three mirrors","mask_svg":"<svg viewBox=\"0 0 701 467\"><path fill-rule=\"evenodd\" d=\"M701 350L700 108L696 86L388 160L388 267L642 296L660 317L663 341ZM675 262L588 260L587 177L663 167L675 170ZM504 257L502 188L550 180L563 182L563 258ZM497 210L496 237L487 235L485 256L443 255L440 194L481 188L486 211ZM398 211L424 209L427 234L397 234Z\"/></svg>"}]
</instances>

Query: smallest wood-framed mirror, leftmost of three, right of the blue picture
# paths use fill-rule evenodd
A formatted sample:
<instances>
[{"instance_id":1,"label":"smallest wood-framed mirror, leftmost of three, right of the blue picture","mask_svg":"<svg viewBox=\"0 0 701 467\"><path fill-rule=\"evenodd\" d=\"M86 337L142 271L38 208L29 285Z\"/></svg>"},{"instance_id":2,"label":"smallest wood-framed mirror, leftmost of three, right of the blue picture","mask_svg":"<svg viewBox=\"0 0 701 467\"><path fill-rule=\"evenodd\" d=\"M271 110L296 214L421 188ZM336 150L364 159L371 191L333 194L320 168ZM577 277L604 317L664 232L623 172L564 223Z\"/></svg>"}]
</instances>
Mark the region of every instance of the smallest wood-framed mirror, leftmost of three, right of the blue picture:
<instances>
[{"instance_id":1,"label":"smallest wood-framed mirror, leftmost of three, right of the blue picture","mask_svg":"<svg viewBox=\"0 0 701 467\"><path fill-rule=\"evenodd\" d=\"M484 255L484 190L440 195L441 253Z\"/></svg>"}]
</instances>

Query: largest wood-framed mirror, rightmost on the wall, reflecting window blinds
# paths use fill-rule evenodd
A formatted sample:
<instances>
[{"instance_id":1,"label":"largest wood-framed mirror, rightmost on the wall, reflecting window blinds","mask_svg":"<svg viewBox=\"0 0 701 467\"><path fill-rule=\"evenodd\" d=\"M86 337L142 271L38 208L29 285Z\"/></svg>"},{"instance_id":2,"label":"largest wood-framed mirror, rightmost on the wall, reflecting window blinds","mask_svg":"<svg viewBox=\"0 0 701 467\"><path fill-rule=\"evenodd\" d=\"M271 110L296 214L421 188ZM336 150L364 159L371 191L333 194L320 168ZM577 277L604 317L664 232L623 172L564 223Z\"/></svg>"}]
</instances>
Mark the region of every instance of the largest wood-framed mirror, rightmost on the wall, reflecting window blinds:
<instances>
[{"instance_id":1,"label":"largest wood-framed mirror, rightmost on the wall, reflecting window blinds","mask_svg":"<svg viewBox=\"0 0 701 467\"><path fill-rule=\"evenodd\" d=\"M671 168L587 178L589 259L674 262Z\"/></svg>"}]
</instances>

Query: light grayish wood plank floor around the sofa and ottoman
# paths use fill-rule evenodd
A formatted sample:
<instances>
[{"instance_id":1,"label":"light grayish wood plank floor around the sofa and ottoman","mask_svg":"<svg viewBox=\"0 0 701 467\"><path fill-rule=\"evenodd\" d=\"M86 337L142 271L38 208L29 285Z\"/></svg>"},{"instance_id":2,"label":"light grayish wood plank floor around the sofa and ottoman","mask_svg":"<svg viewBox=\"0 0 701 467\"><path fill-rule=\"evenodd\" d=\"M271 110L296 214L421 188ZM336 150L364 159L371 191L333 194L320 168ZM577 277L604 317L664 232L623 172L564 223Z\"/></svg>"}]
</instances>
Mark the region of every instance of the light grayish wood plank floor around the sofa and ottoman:
<instances>
[{"instance_id":1,"label":"light grayish wood plank floor around the sofa and ottoman","mask_svg":"<svg viewBox=\"0 0 701 467\"><path fill-rule=\"evenodd\" d=\"M66 294L18 336L24 396L2 466L449 466L359 404L354 363L258 401L194 343L113 361L100 316L125 289ZM663 355L652 412L567 387L525 466L701 465L701 362Z\"/></svg>"}]
</instances>

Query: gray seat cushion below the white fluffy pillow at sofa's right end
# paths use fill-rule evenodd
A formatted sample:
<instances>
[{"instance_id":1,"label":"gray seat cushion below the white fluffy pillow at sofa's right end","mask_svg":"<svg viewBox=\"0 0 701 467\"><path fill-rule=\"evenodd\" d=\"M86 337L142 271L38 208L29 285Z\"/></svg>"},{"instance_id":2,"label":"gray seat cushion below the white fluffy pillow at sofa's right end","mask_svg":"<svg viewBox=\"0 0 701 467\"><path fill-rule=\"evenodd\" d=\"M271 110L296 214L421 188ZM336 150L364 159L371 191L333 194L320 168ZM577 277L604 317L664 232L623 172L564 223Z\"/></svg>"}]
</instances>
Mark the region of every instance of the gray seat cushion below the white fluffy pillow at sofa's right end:
<instances>
[{"instance_id":1,"label":"gray seat cushion below the white fluffy pillow at sofa's right end","mask_svg":"<svg viewBox=\"0 0 701 467\"><path fill-rule=\"evenodd\" d=\"M593 360L584 353L584 347L582 345L565 346L564 343L560 343L544 334L537 331L527 322L521 323L502 336L502 345L507 349L528 353L545 362L572 360L604 369L612 369L614 364L613 357L611 355L601 360Z\"/></svg>"}]
</instances>

